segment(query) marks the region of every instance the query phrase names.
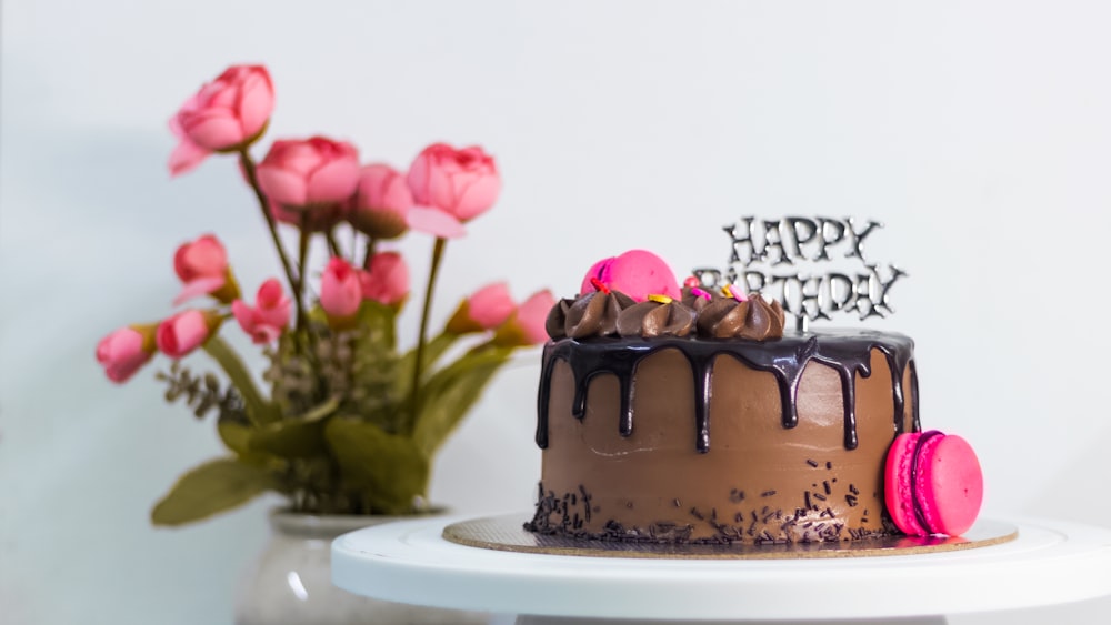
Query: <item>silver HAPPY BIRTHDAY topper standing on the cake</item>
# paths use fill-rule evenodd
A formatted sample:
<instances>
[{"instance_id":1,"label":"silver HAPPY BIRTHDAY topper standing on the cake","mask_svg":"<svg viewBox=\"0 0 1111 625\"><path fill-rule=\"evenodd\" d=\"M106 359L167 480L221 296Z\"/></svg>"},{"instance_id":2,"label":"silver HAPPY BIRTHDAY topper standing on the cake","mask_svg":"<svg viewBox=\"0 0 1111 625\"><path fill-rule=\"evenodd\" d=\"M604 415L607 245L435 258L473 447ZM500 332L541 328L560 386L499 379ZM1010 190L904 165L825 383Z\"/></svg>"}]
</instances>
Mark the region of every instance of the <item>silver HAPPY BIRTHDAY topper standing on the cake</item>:
<instances>
[{"instance_id":1,"label":"silver HAPPY BIRTHDAY topper standing on the cake","mask_svg":"<svg viewBox=\"0 0 1111 625\"><path fill-rule=\"evenodd\" d=\"M864 256L865 240L880 228L878 221L860 224L852 218L745 216L723 228L730 239L728 269L699 268L693 274L703 289L735 284L778 300L799 331L835 312L883 317L894 312L891 286L907 273ZM859 266L839 266L852 260Z\"/></svg>"}]
</instances>

